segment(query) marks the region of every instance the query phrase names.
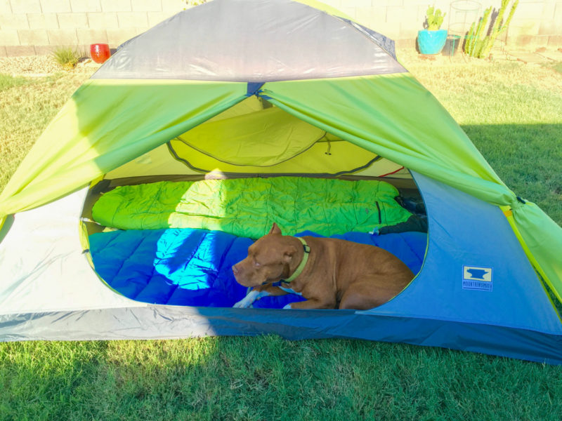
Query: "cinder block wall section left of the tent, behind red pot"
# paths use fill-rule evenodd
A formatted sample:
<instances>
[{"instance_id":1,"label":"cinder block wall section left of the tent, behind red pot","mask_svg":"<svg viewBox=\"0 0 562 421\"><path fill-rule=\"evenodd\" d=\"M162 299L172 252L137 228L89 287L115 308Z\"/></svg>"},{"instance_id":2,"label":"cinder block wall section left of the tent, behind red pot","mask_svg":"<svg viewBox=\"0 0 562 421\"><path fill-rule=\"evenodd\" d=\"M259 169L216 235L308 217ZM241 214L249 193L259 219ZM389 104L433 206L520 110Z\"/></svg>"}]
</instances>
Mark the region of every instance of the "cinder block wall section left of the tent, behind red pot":
<instances>
[{"instance_id":1,"label":"cinder block wall section left of the tent, behind red pot","mask_svg":"<svg viewBox=\"0 0 562 421\"><path fill-rule=\"evenodd\" d=\"M0 0L0 57L57 46L119 46L187 7L182 0Z\"/></svg>"}]
</instances>

